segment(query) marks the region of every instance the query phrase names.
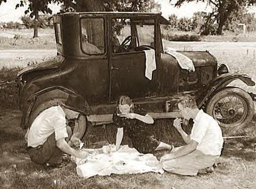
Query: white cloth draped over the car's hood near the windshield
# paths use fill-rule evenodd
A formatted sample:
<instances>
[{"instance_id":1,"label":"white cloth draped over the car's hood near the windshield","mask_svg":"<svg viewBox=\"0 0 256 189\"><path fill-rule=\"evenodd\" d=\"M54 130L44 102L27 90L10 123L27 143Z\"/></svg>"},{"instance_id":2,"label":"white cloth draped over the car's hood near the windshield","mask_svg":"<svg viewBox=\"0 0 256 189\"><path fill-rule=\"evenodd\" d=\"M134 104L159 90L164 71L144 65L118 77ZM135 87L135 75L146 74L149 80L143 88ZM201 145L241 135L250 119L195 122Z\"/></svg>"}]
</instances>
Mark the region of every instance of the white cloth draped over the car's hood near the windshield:
<instances>
[{"instance_id":1,"label":"white cloth draped over the car's hood near the windshield","mask_svg":"<svg viewBox=\"0 0 256 189\"><path fill-rule=\"evenodd\" d=\"M182 69L186 69L188 71L195 71L195 66L194 66L194 63L191 59L189 59L187 56L177 52L177 51L174 51L173 49L168 49L165 50L165 53L168 54L168 55L171 55L173 56L179 66L182 68Z\"/></svg>"}]
</instances>

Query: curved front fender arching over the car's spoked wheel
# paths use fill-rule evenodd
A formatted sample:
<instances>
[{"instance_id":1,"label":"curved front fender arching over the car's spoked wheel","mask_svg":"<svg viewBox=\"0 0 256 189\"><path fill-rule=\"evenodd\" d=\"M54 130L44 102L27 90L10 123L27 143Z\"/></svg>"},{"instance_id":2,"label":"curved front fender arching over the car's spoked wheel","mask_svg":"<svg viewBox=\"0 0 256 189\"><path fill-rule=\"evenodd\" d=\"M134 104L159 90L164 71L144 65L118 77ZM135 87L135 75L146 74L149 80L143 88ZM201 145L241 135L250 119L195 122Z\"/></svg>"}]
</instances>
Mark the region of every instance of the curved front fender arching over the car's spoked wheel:
<instances>
[{"instance_id":1,"label":"curved front fender arching over the car's spoked wheel","mask_svg":"<svg viewBox=\"0 0 256 189\"><path fill-rule=\"evenodd\" d=\"M219 75L212 82L210 82L203 90L200 90L200 94L197 98L198 107L201 108L204 106L208 100L215 95L215 93L223 87L226 87L234 80L240 79L248 86L254 86L255 82L246 75L238 73L226 73Z\"/></svg>"}]
</instances>

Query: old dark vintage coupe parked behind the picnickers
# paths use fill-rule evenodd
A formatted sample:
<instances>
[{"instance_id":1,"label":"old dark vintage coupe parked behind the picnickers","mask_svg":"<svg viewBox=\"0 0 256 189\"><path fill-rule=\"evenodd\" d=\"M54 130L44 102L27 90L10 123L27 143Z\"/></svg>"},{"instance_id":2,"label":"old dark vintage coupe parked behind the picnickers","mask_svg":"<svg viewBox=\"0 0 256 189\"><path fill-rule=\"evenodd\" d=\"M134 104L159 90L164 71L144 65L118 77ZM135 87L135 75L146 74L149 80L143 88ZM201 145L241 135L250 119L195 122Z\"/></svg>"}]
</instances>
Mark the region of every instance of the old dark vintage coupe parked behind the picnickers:
<instances>
[{"instance_id":1,"label":"old dark vintage coupe parked behind the picnickers","mask_svg":"<svg viewBox=\"0 0 256 189\"><path fill-rule=\"evenodd\" d=\"M177 101L189 93L198 106L224 128L240 129L251 121L255 95L227 86L245 74L230 73L208 51L177 51L191 60L195 70L164 51L161 13L82 12L54 16L57 56L31 65L17 75L21 127L27 128L44 109L65 100L70 93L87 102L87 123L112 121L120 95L131 97L155 119L181 116ZM145 77L146 52L154 50L156 70ZM152 51L151 51L152 52ZM152 61L151 61L152 62Z\"/></svg>"}]
</instances>

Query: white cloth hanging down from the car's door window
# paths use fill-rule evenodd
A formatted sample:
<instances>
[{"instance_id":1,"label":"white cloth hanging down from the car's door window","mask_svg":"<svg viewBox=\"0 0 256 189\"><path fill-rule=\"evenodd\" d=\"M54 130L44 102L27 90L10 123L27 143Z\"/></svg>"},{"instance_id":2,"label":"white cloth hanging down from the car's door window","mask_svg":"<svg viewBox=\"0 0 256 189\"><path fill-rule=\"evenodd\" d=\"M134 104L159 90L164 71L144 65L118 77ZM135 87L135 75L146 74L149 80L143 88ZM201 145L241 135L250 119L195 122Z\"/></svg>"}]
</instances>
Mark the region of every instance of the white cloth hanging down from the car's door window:
<instances>
[{"instance_id":1,"label":"white cloth hanging down from the car's door window","mask_svg":"<svg viewBox=\"0 0 256 189\"><path fill-rule=\"evenodd\" d=\"M145 57L146 57L146 69L145 69L145 76L151 80L152 79L152 72L156 70L156 63L155 63L155 51L151 50L144 50Z\"/></svg>"}]
</instances>

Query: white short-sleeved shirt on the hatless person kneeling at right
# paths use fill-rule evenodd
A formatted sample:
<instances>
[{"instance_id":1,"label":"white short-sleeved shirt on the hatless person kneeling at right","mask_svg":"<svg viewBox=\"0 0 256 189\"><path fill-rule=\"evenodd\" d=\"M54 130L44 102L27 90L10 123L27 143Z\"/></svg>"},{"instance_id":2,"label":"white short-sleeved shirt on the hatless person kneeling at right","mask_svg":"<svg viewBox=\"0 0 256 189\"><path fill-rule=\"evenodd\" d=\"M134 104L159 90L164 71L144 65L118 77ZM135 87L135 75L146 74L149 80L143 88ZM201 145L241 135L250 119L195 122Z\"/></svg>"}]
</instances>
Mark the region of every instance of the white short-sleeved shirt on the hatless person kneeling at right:
<instances>
[{"instance_id":1,"label":"white short-sleeved shirt on the hatless person kneeling at right","mask_svg":"<svg viewBox=\"0 0 256 189\"><path fill-rule=\"evenodd\" d=\"M190 139L197 141L197 150L206 155L219 156L221 153L223 137L219 124L203 110L194 119Z\"/></svg>"}]
</instances>

